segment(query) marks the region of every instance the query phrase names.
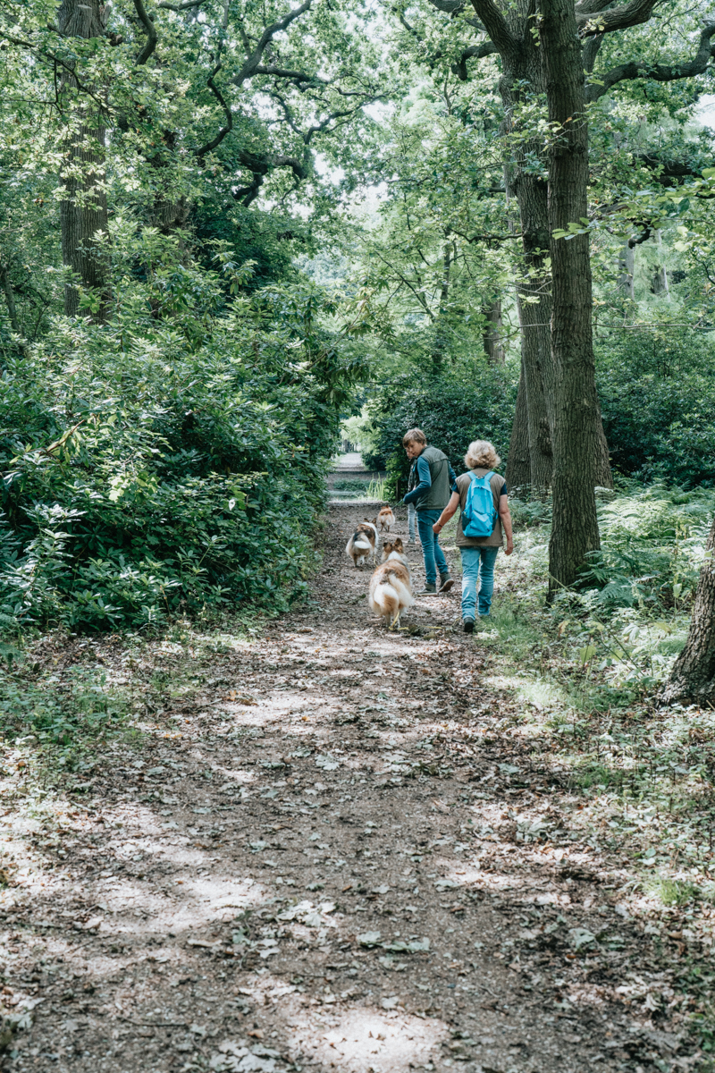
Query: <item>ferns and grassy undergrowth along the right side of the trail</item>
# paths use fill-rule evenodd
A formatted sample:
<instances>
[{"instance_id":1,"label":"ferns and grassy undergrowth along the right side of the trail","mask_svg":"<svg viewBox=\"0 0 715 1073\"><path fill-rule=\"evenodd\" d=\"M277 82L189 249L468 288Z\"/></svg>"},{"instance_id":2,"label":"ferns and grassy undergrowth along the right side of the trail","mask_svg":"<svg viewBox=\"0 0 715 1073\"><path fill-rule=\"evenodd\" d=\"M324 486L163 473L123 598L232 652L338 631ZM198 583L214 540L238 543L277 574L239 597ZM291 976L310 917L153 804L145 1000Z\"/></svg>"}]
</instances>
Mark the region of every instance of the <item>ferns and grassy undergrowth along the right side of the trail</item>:
<instances>
[{"instance_id":1,"label":"ferns and grassy undergrowth along the right side of the trail","mask_svg":"<svg viewBox=\"0 0 715 1073\"><path fill-rule=\"evenodd\" d=\"M584 842L620 854L620 897L639 915L692 930L710 950L715 903L715 711L661 708L657 694L687 636L705 534L709 490L630 486L599 504L602 547L578 591L543 593L548 503L513 503L517 549L500 557L488 629L515 702L513 733L581 804ZM697 968L697 972L696 972ZM710 980L683 957L683 994L703 1002ZM700 978L698 978L700 979ZM701 1046L715 1020L699 1010Z\"/></svg>"}]
</instances>

